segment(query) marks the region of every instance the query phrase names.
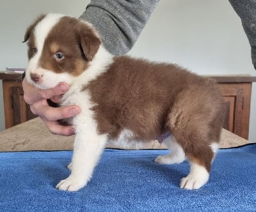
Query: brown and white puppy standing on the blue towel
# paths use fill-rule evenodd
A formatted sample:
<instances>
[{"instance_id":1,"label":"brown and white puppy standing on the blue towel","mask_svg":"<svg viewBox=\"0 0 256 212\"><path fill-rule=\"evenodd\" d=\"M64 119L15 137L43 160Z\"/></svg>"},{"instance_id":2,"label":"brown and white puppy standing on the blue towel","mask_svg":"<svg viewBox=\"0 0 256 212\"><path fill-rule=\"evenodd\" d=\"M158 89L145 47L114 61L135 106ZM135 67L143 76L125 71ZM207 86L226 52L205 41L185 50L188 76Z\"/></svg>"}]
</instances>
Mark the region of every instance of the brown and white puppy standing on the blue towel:
<instances>
[{"instance_id":1,"label":"brown and white puppy standing on the blue towel","mask_svg":"<svg viewBox=\"0 0 256 212\"><path fill-rule=\"evenodd\" d=\"M26 79L48 89L67 82L61 105L76 104L70 176L56 188L76 191L92 178L106 142L147 142L163 137L170 147L157 163L188 158L190 172L180 187L207 183L223 125L223 99L212 79L175 64L114 57L87 22L60 14L44 15L26 31Z\"/></svg>"}]
</instances>

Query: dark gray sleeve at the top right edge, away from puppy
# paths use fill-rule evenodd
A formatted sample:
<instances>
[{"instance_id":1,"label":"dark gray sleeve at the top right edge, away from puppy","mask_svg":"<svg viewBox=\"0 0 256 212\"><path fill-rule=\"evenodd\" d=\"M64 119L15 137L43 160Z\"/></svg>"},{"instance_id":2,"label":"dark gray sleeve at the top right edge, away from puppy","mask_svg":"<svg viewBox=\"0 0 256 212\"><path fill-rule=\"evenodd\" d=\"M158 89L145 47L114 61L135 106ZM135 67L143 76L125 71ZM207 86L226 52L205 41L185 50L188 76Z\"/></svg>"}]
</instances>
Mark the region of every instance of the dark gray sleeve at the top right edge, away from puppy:
<instances>
[{"instance_id":1,"label":"dark gray sleeve at the top right edge, away from puppy","mask_svg":"<svg viewBox=\"0 0 256 212\"><path fill-rule=\"evenodd\" d=\"M241 18L244 32L251 45L252 63L256 69L256 1L229 0L230 4Z\"/></svg>"}]
</instances>

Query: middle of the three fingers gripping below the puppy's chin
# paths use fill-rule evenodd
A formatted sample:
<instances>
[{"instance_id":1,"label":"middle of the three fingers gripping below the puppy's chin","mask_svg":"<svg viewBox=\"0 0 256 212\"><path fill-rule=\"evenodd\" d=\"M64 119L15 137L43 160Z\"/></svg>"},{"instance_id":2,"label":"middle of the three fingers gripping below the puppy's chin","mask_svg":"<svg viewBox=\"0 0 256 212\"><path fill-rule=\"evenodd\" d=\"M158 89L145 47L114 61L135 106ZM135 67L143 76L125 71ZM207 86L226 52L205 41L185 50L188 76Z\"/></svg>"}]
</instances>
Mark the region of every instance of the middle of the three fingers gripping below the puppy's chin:
<instances>
[{"instance_id":1,"label":"middle of the three fingers gripping below the puppy's chin","mask_svg":"<svg viewBox=\"0 0 256 212\"><path fill-rule=\"evenodd\" d=\"M31 105L31 111L37 116L49 119L49 121L56 121L59 119L67 119L76 116L81 112L77 105L68 105L63 107L49 107L46 100L36 102Z\"/></svg>"}]
</instances>

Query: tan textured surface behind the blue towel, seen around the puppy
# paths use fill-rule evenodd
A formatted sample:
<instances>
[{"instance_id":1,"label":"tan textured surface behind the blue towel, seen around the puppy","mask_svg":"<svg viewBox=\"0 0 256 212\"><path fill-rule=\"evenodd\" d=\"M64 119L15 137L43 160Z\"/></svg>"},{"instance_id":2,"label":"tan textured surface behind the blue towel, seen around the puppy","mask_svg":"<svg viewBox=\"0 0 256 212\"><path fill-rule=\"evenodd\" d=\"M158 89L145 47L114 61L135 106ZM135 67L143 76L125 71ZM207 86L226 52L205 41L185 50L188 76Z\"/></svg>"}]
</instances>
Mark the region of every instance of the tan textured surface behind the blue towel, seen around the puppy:
<instances>
[{"instance_id":1,"label":"tan textured surface behind the blue towel, seen around the puppy","mask_svg":"<svg viewBox=\"0 0 256 212\"><path fill-rule=\"evenodd\" d=\"M64 137L53 135L46 128L43 121L36 117L0 132L0 151L60 151L73 149L74 136ZM118 142L110 144L107 148L122 148ZM230 148L248 144L248 140L223 129L221 132L220 148ZM114 146L115 145L115 146ZM120 145L120 144L119 144ZM166 149L156 140L145 142L143 149ZM136 149L131 146L129 149Z\"/></svg>"}]
</instances>

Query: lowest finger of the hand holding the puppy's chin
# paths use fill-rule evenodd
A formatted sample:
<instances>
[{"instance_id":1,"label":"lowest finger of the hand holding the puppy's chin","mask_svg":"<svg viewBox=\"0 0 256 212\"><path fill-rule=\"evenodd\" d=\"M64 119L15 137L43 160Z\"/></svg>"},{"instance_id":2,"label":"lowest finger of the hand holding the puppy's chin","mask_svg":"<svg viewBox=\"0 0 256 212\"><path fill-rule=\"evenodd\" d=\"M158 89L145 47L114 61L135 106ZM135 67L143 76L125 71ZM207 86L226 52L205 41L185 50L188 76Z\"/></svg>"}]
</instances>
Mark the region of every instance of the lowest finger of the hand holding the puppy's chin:
<instances>
[{"instance_id":1,"label":"lowest finger of the hand holding the puppy's chin","mask_svg":"<svg viewBox=\"0 0 256 212\"><path fill-rule=\"evenodd\" d=\"M63 126L58 123L58 121L49 121L46 119L42 119L49 129L49 131L54 135L64 135L64 136L70 136L74 135L75 129L73 126Z\"/></svg>"}]
</instances>

